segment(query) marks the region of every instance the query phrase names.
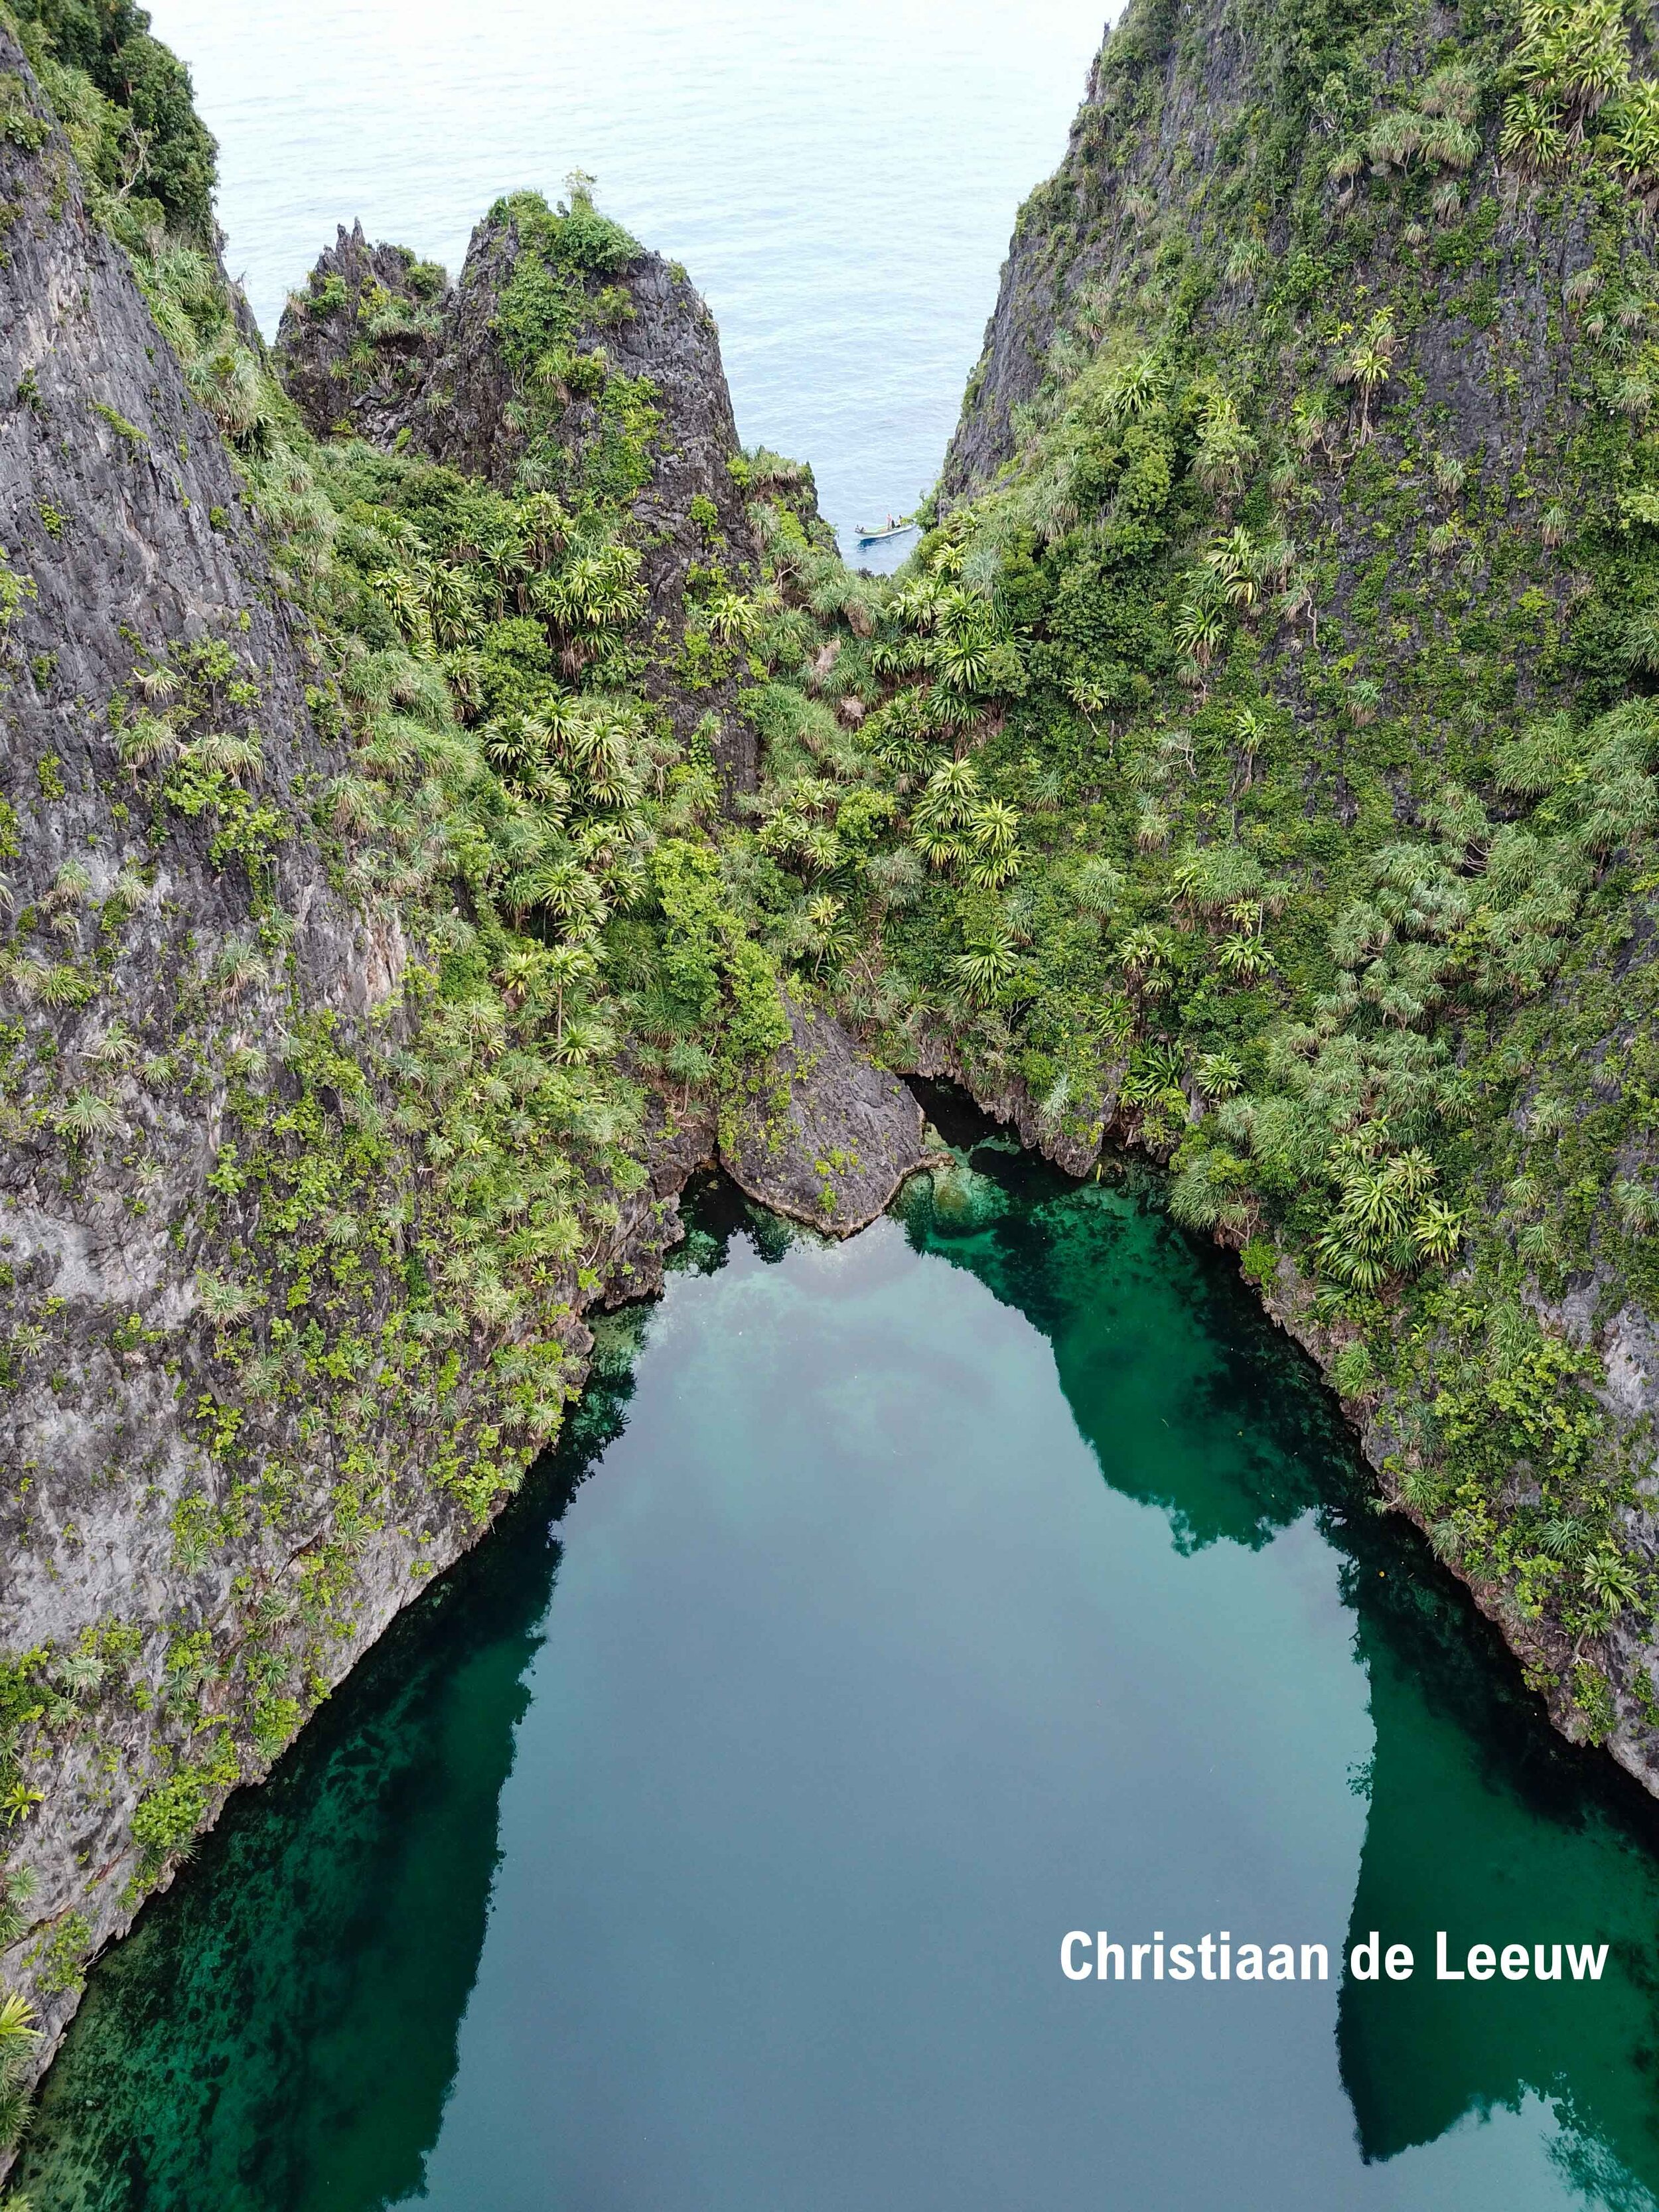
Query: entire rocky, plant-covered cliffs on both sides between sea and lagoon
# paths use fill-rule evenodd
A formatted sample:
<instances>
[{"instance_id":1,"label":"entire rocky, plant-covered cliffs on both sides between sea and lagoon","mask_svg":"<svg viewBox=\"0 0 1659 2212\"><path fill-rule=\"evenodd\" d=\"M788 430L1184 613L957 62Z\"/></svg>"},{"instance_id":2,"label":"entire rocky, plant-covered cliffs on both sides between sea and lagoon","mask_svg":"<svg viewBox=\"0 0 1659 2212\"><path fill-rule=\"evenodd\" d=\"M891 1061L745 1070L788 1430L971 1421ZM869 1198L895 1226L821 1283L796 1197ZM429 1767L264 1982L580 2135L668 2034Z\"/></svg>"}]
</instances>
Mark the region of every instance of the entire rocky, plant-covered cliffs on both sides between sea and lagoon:
<instances>
[{"instance_id":1,"label":"entire rocky, plant-covered cliffs on both sides between sea and lagoon","mask_svg":"<svg viewBox=\"0 0 1659 2212\"><path fill-rule=\"evenodd\" d=\"M0 9L4 2128L703 1161L1139 1146L1659 1778L1646 18L1133 0L925 535L504 197L268 354L142 11Z\"/></svg>"}]
</instances>

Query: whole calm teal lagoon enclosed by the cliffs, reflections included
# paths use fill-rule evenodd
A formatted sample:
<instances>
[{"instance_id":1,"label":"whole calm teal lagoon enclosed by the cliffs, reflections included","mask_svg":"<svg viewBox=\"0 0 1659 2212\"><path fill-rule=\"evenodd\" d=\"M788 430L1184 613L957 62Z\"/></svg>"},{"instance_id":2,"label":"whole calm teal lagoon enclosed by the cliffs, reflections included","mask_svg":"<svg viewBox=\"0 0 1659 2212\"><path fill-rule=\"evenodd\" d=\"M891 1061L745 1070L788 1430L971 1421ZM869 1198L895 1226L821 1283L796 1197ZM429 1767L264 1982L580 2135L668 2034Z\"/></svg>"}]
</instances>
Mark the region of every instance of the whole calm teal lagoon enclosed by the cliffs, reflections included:
<instances>
[{"instance_id":1,"label":"whole calm teal lagoon enclosed by the cliffs, reflections included","mask_svg":"<svg viewBox=\"0 0 1659 2212\"><path fill-rule=\"evenodd\" d=\"M1652 1809L1228 1263L995 1148L841 1250L730 1208L97 1971L35 2212L1650 2205ZM1613 1953L1451 1986L1440 1927Z\"/></svg>"}]
</instances>

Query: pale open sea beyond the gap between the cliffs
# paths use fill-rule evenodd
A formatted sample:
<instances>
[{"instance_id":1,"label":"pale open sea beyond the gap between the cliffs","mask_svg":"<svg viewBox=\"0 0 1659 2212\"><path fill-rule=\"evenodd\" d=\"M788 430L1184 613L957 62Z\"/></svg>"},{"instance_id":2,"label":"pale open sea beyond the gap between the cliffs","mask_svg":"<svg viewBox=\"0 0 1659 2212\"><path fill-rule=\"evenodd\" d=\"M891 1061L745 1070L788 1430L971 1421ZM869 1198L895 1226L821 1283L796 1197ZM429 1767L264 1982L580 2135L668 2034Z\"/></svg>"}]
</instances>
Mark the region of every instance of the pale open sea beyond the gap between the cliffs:
<instances>
[{"instance_id":1,"label":"pale open sea beyond the gap between the cliffs","mask_svg":"<svg viewBox=\"0 0 1659 2212\"><path fill-rule=\"evenodd\" d=\"M823 511L938 476L1013 212L1066 144L1104 0L148 0L221 144L226 259L274 334L334 223L460 268L498 192L599 199L721 325L748 445ZM847 553L854 544L843 535ZM858 555L891 566L907 540Z\"/></svg>"}]
</instances>

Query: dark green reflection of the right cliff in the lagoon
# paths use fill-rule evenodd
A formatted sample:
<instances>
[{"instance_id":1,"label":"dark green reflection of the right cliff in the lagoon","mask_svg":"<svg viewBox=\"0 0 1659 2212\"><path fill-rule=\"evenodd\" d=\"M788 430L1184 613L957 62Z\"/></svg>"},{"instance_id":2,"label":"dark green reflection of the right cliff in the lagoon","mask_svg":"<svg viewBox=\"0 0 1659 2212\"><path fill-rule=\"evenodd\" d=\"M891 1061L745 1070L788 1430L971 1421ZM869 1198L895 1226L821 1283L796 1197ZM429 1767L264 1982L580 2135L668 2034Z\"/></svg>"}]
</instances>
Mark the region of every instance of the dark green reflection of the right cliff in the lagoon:
<instances>
[{"instance_id":1,"label":"dark green reflection of the right cliff in the lagoon","mask_svg":"<svg viewBox=\"0 0 1659 2212\"><path fill-rule=\"evenodd\" d=\"M958 1135L971 1139L971 1128ZM1659 1807L1553 1734L1467 1593L1398 1522L1369 1511L1332 1396L1237 1276L1203 1265L1168 1223L1148 1243L1117 1201L1102 1214L1077 1197L1044 1197L1044 1181L1022 1157L1000 1164L991 1188L967 1170L947 1206L927 1210L925 1243L1048 1336L1106 1480L1159 1504L1183 1551L1261 1546L1312 1509L1345 1559L1376 1730L1354 1776L1367 1823L1345 1955L1380 1929L1416 1958L1409 1982L1345 1980L1338 1993L1363 2157L1431 2143L1464 2115L1520 2110L1531 2093L1557 2108L1553 2152L1571 2185L1590 2201L1648 2203L1659 2190ZM1091 1287L1113 1241L1113 1305L1102 1310ZM1135 1338L1119 1336L1119 1301L1155 1310L1170 1279L1208 1307L1190 1340L1210 1360L1186 1402L1208 1436L1225 1438L1239 1416L1230 1455L1135 1460L1124 1449L1144 1429L1124 1420ZM1458 1989L1433 1978L1438 1929L1453 1962L1482 1940L1531 1949L1595 1938L1610 1942L1610 1969L1601 1984L1500 1978Z\"/></svg>"}]
</instances>

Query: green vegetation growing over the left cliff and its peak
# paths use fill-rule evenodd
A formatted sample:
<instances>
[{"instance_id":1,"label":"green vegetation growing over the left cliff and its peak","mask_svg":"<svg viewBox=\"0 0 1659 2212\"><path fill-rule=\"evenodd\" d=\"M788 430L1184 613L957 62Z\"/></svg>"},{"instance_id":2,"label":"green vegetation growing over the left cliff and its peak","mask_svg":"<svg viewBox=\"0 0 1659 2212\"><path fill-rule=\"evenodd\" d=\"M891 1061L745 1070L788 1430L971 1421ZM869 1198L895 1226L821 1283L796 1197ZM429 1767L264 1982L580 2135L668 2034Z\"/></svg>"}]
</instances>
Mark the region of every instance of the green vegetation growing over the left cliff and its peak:
<instances>
[{"instance_id":1,"label":"green vegetation growing over the left cliff and its peak","mask_svg":"<svg viewBox=\"0 0 1659 2212\"><path fill-rule=\"evenodd\" d=\"M42 18L31 51L71 142L88 117L104 131L75 142L91 206L234 458L246 504L215 526L263 538L305 633L330 763L281 781L268 677L234 624L192 644L133 637L104 776L111 821L131 825L111 838L119 865L64 860L0 942L22 1013L2 1040L0 1117L51 1152L66 1190L119 1166L124 1203L146 1212L155 1170L131 1088L179 1115L226 1097L195 1223L215 1254L197 1318L117 1316L108 1349L166 1365L215 1469L212 1491L170 1509L179 1577L263 1531L294 1551L279 1590L243 1577L230 1617L173 1632L164 1652L108 1619L13 1670L0 1772L13 1827L40 1818L35 1776L97 1743L102 1714L153 1717L133 1774L131 1907L325 1694L363 1546L387 1528L431 1544L518 1486L575 1394L580 1305L615 1276L635 1223L650 1230L646 1126L692 1097L708 1113L750 1097L787 1020L717 843L708 732L681 741L641 690L628 500L650 478L653 394L564 343L584 319L630 312L619 279L639 248L595 210L591 179L560 210L533 195L498 210L515 239L500 334L522 458L495 491L352 438L319 447L243 343L199 228L159 195L139 208L97 184L108 133L128 126L69 60L66 20ZM405 276L416 294L442 285L420 265ZM562 438L577 400L591 420ZM115 409L97 416L119 449L146 445ZM42 526L55 535L64 518ZM0 644L31 591L0 564ZM741 639L728 571L710 562L699 595L710 633ZM66 796L62 761L42 759L29 803ZM241 927L197 942L170 920L157 883L175 838L201 841ZM15 852L9 810L0 843ZM363 1022L307 1006L279 896L296 843L394 947ZM157 927L170 1018L133 1026L115 960ZM51 1031L64 1011L91 1024L73 1075ZM66 1325L62 1298L38 1301L2 1347L4 1387L71 1391ZM142 1473L113 1464L102 1480ZM42 1931L35 1986L75 1989L91 1940L77 1916Z\"/></svg>"}]
</instances>

